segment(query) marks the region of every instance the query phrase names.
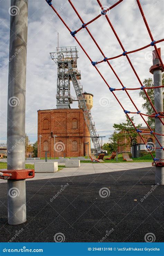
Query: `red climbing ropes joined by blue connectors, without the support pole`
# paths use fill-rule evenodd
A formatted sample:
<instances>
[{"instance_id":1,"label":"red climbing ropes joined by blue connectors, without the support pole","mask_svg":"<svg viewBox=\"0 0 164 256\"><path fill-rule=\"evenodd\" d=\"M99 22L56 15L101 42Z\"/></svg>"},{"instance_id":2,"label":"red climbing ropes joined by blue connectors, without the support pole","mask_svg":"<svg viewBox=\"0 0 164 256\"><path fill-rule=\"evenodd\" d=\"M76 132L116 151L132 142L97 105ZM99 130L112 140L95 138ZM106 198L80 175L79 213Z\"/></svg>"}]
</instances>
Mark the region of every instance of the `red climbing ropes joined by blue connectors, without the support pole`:
<instances>
[{"instance_id":1,"label":"red climbing ropes joined by blue connectors, without the support pole","mask_svg":"<svg viewBox=\"0 0 164 256\"><path fill-rule=\"evenodd\" d=\"M69 3L71 4L72 8L74 9L75 13L78 15L78 17L79 17L79 19L81 20L81 22L82 22L82 27L81 27L80 29L78 29L78 30L75 30L75 31L71 31L70 28L66 25L66 23L64 22L64 20L62 19L62 17L58 14L58 12L56 11L56 9L52 6L52 0L46 0L46 2L47 2L47 3L52 7L52 9L55 11L55 13L57 14L57 16L61 19L61 21L63 22L63 24L64 24L64 25L67 27L67 29L70 31L71 35L74 37L74 39L76 40L76 42L79 44L79 46L81 47L81 49L84 51L84 53L86 54L86 56L89 58L89 60L90 60L90 62L92 63L92 65L93 65L93 66L95 67L95 69L98 71L98 73L100 74L101 78L102 78L103 81L106 83L106 85L108 86L108 88L109 88L110 91L112 92L113 96L116 98L116 100L118 101L118 103L119 103L120 106L122 107L123 111L124 111L125 114L127 115L128 119L129 119L130 122L133 124L134 128L136 129L138 135L140 136L140 138L142 139L142 141L144 142L144 144L147 146L147 144L145 143L143 137L142 137L141 134L140 134L140 133L142 133L142 131L140 131L139 129L136 128L136 126L135 126L133 120L129 117L128 113L139 114L139 115L142 117L142 119L144 120L144 122L146 123L147 127L148 127L149 130L150 130L150 132L145 132L145 131L144 131L143 133L152 134L152 135L155 137L155 139L156 139L156 141L158 142L158 144L160 145L160 149L163 149L163 150L164 150L164 148L163 148L163 146L161 145L160 141L159 141L158 138L156 137L156 135L161 135L161 134L158 134L158 133L155 133L154 131L152 131L151 127L148 125L147 121L146 121L146 120L144 119L144 117L143 117L143 115L145 115L145 116L149 116L149 117L158 118L158 119L164 124L164 122L163 122L162 119L161 119L161 118L163 118L163 116L160 115L159 113L157 113L157 111L156 111L156 109L155 109L153 103L151 102L151 99L149 98L149 96L148 96L148 94L147 94L147 91L146 91L146 89L161 88L161 87L164 87L164 86L154 86L154 87L145 87L145 86L143 86L143 84L142 84L142 82L141 82L141 80L140 80L140 78L139 78L139 76L138 76L138 74L137 74L137 72L136 72L136 70L135 70L133 64L131 63L129 57L127 56L127 55L130 54L130 53L134 53L134 52L140 51L140 50L145 49L145 48L147 48L147 47L149 47L149 46L154 46L155 49L156 49L156 51L157 51L156 43L162 42L162 41L164 41L164 39L161 39L161 40L158 40L158 41L154 41L154 40L153 40L151 31L150 31L150 29L149 29L149 27L148 27L148 24L147 24L147 21L146 21L146 18L145 18L145 19L144 19L144 22L145 22L145 25L146 25L146 27L147 27L147 29L148 29L148 32L149 32L149 35L150 35L150 37L151 37L152 42L151 42L149 45L146 45L146 46L144 46L144 47L142 47L142 48L139 48L139 49L136 49L136 50L127 52L127 51L125 51L125 48L124 48L124 46L122 45L122 43L121 43L121 41L120 41L120 39L119 39L119 37L118 37L118 35L117 35L117 33L116 33L114 27L112 26L112 24L111 24L111 22L110 22L110 20L109 20L109 17L106 15L106 13L107 13L108 10L112 9L113 7L115 7L116 5L118 5L118 4L119 4L120 2L122 2L123 0L120 0L120 1L116 2L114 5L112 5L111 7L109 7L109 8L106 9L106 10L103 9L103 6L101 5L100 0L97 0L97 2L99 3L99 5L100 5L100 7L101 7L101 9L102 9L101 14L98 15L97 17L95 17L94 19L92 19L92 20L91 20L90 22L88 22L88 23L84 23L83 19L81 18L80 14L78 13L78 11L76 10L76 8L74 7L74 5L73 5L73 3L71 2L71 0L68 0L68 1L69 1ZM139 9L140 9L142 15L144 16L142 7L140 6L140 3L139 3L139 0L137 0L137 3L138 3ZM96 19L98 19L101 15L104 15L104 16L106 17L106 19L107 19L107 21L108 21L108 23L109 23L109 25L110 25L110 27L111 27L113 33L115 34L115 36L116 36L116 38L117 38L117 40L118 40L118 42L119 42L119 44L120 44L122 50L124 51L123 54L117 55L117 56L112 57L112 58L107 58L107 57L104 55L104 53L103 53L103 51L101 50L101 48L99 47L99 45L98 45L98 43L96 42L96 40L94 39L94 37L92 36L92 34L91 34L91 32L89 31L88 27L86 27L88 24L90 24L91 22L93 22L93 21L95 21ZM144 17L145 17L145 16L144 16ZM96 45L96 46L98 47L98 49L100 50L101 54L102 54L103 57L104 57L103 61L108 63L109 67L111 68L111 70L113 71L113 73L114 73L115 76L117 77L118 81L120 82L120 84L121 84L121 86L122 86L122 89L115 89L115 88L111 88L111 87L109 86L108 82L106 81L106 79L103 77L103 75L101 74L101 72L99 71L99 69L98 69L97 66L96 66L98 63L101 63L101 62L103 62L103 61L101 61L101 62L93 62L92 59L90 58L90 56L88 55L88 53L85 51L85 49L83 48L83 46L82 46L81 43L79 42L79 40L75 37L75 34L76 34L77 32L79 32L79 31L80 31L81 29L83 29L83 28L86 29L86 31L89 33L90 37L91 37L92 40L94 41L95 45ZM141 85L140 88L126 88L126 87L123 85L123 83L121 82L121 80L119 79L117 73L115 72L115 70L113 69L113 67L111 66L111 64L109 63L109 60L110 60L110 59L118 58L118 57L121 57L122 55L123 55L123 56L126 56L126 58L128 59L128 62L129 62L129 64L130 64L131 68L133 69L133 71L134 71L134 73L135 73L135 75L136 75L136 77L137 77L137 79L138 79L138 81L139 81L139 83L140 83L140 85ZM157 51L157 55L160 55L160 54L158 53L158 51ZM158 57L159 57L159 56L158 56ZM161 57L160 57L159 59L160 59L161 65L163 66ZM129 93L127 92L127 90L137 90L137 89L142 89L142 90L145 92L145 94L146 94L146 96L147 96L147 98L148 98L149 103L151 104L153 110L155 111L155 115L146 115L146 114L140 113L140 111L138 110L138 108L137 108L137 106L135 105L134 101L132 100L132 98L130 97ZM126 110L124 109L124 107L122 106L122 104L120 103L118 97L115 95L115 93L114 93L115 90L125 90L125 93L128 95L130 101L131 101L131 102L133 103L133 105L135 106L137 112L126 111ZM149 150L149 148L147 148L147 149L148 149L149 153L150 153L150 154L152 155L152 157L153 157L153 154L151 153L151 151ZM154 161L155 161L155 158L154 158L154 157L153 157L153 159L154 159ZM158 160L158 159L156 159L156 160Z\"/></svg>"}]
</instances>

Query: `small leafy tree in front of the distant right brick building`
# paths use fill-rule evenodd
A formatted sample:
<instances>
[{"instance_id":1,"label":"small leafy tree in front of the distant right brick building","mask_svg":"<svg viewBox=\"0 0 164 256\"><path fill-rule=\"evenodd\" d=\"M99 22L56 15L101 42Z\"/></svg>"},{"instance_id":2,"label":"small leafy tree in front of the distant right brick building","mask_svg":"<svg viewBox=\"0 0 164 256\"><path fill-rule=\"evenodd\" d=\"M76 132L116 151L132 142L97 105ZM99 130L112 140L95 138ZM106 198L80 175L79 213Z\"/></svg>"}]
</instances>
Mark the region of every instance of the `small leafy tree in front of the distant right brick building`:
<instances>
[{"instance_id":1,"label":"small leafy tree in front of the distant right brick building","mask_svg":"<svg viewBox=\"0 0 164 256\"><path fill-rule=\"evenodd\" d=\"M134 117L131 117L131 120L134 121ZM136 128L142 127L142 124L136 126ZM134 139L137 138L138 133L126 115L126 122L124 123L114 123L113 128L115 128L118 133L115 134L115 139L117 139L118 146L132 146ZM125 141L125 143L123 143Z\"/></svg>"}]
</instances>

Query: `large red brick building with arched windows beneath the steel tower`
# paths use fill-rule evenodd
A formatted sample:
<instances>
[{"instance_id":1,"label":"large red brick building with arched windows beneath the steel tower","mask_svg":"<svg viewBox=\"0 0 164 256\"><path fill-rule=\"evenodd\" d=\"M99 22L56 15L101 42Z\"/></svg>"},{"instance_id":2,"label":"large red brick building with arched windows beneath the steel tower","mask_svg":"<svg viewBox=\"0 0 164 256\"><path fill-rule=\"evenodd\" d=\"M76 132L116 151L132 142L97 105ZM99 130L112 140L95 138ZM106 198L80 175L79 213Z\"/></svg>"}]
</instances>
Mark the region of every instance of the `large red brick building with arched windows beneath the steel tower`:
<instances>
[{"instance_id":1,"label":"large red brick building with arched windows beneath the steel tower","mask_svg":"<svg viewBox=\"0 0 164 256\"><path fill-rule=\"evenodd\" d=\"M83 109L38 110L38 136L41 137L41 157L79 157L90 154L90 133L84 121ZM85 137L88 136L88 137ZM86 144L88 143L88 144ZM39 137L38 137L38 157Z\"/></svg>"}]
</instances>

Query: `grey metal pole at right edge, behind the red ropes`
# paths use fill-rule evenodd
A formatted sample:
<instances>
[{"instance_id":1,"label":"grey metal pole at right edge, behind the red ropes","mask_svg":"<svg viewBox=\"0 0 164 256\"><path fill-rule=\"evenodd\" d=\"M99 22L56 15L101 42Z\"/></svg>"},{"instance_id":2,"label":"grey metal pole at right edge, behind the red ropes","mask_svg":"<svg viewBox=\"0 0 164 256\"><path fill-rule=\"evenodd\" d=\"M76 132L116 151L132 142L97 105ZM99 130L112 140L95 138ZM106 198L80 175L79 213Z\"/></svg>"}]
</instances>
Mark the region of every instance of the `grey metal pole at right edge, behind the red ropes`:
<instances>
[{"instance_id":1,"label":"grey metal pole at right edge, behind the red ropes","mask_svg":"<svg viewBox=\"0 0 164 256\"><path fill-rule=\"evenodd\" d=\"M158 48L159 52L161 53L161 49ZM153 65L159 64L160 60L156 54L156 51L153 51ZM162 85L162 71L157 67L153 71L153 78L154 78L154 86L161 86ZM163 112L163 90L162 88L154 89L154 105L157 112ZM155 118L155 132L164 134L164 126L158 118ZM160 135L156 135L158 140L160 141L161 145L164 146L164 137ZM157 141L155 141L155 147L160 147ZM164 159L164 151L161 149L155 150L156 158L157 159ZM159 161L161 162L161 161ZM155 168L155 183L164 185L164 167L156 167Z\"/></svg>"}]
</instances>

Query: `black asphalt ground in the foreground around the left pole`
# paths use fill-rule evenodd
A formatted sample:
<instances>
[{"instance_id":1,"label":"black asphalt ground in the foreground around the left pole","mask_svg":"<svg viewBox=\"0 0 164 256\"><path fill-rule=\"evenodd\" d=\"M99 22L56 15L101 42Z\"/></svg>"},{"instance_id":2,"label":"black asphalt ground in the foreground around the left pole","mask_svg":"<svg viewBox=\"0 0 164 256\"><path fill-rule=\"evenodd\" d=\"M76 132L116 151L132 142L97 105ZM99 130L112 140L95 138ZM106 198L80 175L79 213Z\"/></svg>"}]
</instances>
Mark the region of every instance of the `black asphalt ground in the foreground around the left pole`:
<instances>
[{"instance_id":1,"label":"black asphalt ground in the foreground around the left pole","mask_svg":"<svg viewBox=\"0 0 164 256\"><path fill-rule=\"evenodd\" d=\"M16 226L8 224L7 183L0 191L1 242L54 242L57 233L65 242L145 242L147 233L163 241L154 167L27 181L27 222Z\"/></svg>"}]
</instances>

